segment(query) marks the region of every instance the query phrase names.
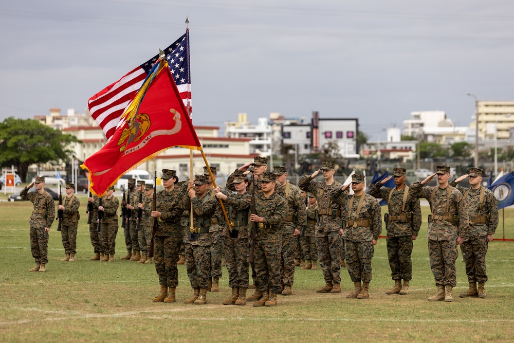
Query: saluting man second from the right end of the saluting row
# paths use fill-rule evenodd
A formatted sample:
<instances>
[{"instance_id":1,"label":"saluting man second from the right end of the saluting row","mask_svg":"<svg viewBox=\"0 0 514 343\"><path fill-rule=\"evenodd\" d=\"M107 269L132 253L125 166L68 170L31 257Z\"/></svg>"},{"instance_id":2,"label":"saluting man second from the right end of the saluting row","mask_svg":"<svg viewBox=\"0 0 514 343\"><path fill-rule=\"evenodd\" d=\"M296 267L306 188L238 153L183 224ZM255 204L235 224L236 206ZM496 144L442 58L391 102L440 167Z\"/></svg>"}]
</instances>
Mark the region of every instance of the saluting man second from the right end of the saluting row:
<instances>
[{"instance_id":1,"label":"saluting man second from the right end of the saluting row","mask_svg":"<svg viewBox=\"0 0 514 343\"><path fill-rule=\"evenodd\" d=\"M437 175L438 186L423 187ZM424 197L432 210L428 224L428 252L430 267L434 274L437 294L429 301L453 301L453 287L456 285L455 260L457 244L466 237L468 211L461 192L448 185L450 167L437 166L437 173L421 182L411 184L409 195Z\"/></svg>"}]
</instances>

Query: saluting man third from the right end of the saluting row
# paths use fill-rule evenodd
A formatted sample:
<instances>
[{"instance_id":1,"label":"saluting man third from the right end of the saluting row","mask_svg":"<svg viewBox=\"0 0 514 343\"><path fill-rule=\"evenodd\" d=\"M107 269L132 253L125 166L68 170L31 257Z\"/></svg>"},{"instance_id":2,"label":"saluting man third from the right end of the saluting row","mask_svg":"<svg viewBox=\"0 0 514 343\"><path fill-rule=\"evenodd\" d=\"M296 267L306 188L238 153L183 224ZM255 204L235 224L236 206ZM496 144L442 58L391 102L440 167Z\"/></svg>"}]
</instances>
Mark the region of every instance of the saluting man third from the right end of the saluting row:
<instances>
[{"instance_id":1,"label":"saluting man third from the right end of the saluting row","mask_svg":"<svg viewBox=\"0 0 514 343\"><path fill-rule=\"evenodd\" d=\"M388 219L386 221L387 252L394 287L386 294L409 294L413 241L421 227L419 199L409 196L409 186L405 185L405 173L404 168L394 168L392 176L377 182L370 191L370 195L388 202L389 213L384 218ZM394 177L396 187L381 187L391 177Z\"/></svg>"}]
</instances>

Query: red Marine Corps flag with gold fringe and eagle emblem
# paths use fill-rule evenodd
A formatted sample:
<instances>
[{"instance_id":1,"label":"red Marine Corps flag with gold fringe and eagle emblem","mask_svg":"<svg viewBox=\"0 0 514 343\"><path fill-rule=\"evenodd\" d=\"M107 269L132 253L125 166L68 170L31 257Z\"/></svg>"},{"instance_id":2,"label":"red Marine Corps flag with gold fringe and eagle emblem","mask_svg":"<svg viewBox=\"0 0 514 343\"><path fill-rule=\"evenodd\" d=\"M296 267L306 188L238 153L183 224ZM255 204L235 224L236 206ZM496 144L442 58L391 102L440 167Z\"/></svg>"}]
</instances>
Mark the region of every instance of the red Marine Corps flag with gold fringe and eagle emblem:
<instances>
[{"instance_id":1,"label":"red Marine Corps flag with gold fringe and eagle emblem","mask_svg":"<svg viewBox=\"0 0 514 343\"><path fill-rule=\"evenodd\" d=\"M98 196L127 171L168 148L201 150L166 58L162 57L123 113L111 139L81 166L89 171L90 190Z\"/></svg>"}]
</instances>

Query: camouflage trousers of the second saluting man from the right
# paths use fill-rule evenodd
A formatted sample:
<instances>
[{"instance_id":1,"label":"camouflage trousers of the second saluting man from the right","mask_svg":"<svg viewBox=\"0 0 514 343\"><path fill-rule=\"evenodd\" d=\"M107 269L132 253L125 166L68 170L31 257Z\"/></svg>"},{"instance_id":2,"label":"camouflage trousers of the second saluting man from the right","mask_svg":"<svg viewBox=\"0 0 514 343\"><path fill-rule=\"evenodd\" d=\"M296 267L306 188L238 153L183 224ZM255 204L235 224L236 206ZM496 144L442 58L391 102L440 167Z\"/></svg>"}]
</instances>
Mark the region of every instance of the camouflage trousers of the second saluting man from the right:
<instances>
[{"instance_id":1,"label":"camouflage trousers of the second saluting man from the right","mask_svg":"<svg viewBox=\"0 0 514 343\"><path fill-rule=\"evenodd\" d=\"M436 285L457 284L455 273L455 260L457 259L457 242L428 240L428 255L430 268L434 274Z\"/></svg>"}]
</instances>

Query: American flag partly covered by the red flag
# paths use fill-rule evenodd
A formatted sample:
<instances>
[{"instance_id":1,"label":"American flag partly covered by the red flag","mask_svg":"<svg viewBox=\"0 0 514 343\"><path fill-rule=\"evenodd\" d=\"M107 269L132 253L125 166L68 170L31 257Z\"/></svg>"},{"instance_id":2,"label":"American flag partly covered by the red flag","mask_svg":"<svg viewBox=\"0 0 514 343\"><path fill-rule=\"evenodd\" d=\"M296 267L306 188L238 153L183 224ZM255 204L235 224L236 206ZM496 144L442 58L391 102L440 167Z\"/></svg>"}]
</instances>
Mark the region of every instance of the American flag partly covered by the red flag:
<instances>
[{"instance_id":1,"label":"American flag partly covered by the red flag","mask_svg":"<svg viewBox=\"0 0 514 343\"><path fill-rule=\"evenodd\" d=\"M180 97L191 117L189 30L163 51L166 53L166 59L168 60ZM107 140L113 136L125 108L136 96L144 79L158 58L159 55L156 55L129 71L121 79L108 85L87 101L89 113L100 125Z\"/></svg>"}]
</instances>

